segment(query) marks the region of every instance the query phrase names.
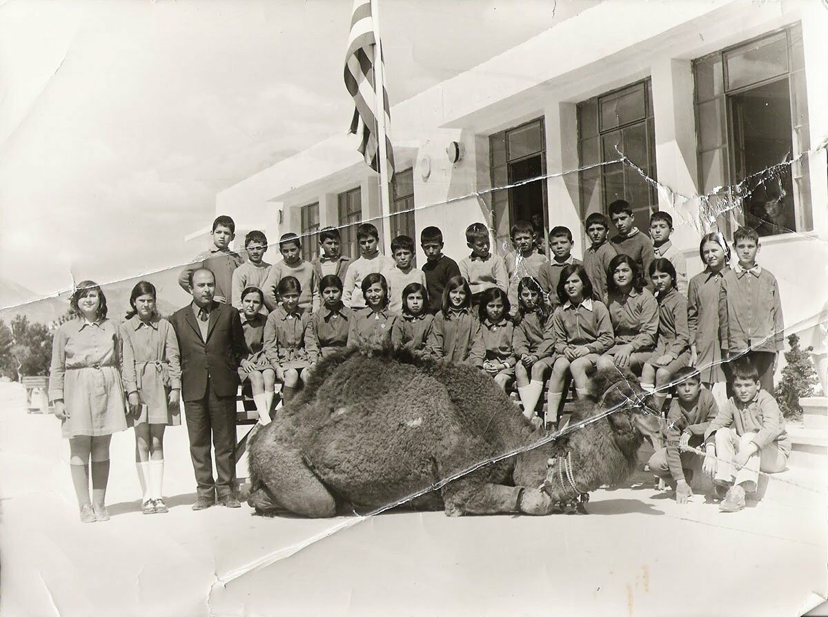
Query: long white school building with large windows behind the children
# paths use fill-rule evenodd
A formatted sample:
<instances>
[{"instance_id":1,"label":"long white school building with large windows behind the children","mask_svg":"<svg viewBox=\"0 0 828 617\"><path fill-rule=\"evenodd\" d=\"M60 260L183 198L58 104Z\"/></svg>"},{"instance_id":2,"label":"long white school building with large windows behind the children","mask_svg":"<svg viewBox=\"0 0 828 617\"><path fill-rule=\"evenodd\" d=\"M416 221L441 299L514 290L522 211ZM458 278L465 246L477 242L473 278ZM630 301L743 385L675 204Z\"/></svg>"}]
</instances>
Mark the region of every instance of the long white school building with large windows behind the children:
<instances>
[{"instance_id":1,"label":"long white school building with large windows behind the children","mask_svg":"<svg viewBox=\"0 0 828 617\"><path fill-rule=\"evenodd\" d=\"M816 342L828 289L826 32L817 0L596 2L392 108L392 236L419 243L420 230L437 225L459 260L468 224L489 221L503 253L510 224L536 215L569 227L580 256L581 221L623 197L641 228L652 210L672 214L693 275L700 233L718 227L729 237L742 222L732 194L698 195L789 157L790 231L764 225L759 261L777 276L788 328ZM454 164L451 142L464 152ZM600 165L619 158L616 147L658 188L626 163ZM344 135L222 191L216 212L258 224L272 242L306 234L308 255L320 226L342 227L344 251L355 255L351 225L383 224L378 176Z\"/></svg>"}]
</instances>

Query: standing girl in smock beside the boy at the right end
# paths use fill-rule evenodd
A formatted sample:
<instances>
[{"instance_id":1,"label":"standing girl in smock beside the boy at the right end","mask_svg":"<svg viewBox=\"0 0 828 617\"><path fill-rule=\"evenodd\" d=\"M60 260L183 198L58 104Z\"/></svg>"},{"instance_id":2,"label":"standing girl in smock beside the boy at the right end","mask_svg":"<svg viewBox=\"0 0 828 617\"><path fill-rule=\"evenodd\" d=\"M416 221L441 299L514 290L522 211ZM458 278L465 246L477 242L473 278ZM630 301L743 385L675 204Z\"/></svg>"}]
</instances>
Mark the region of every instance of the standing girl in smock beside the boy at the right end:
<instances>
[{"instance_id":1,"label":"standing girl in smock beside the boy at the right end","mask_svg":"<svg viewBox=\"0 0 828 617\"><path fill-rule=\"evenodd\" d=\"M687 326L690 329L690 364L699 369L701 383L713 390L726 381L719 341L719 290L730 267L730 248L717 231L699 243L704 271L690 280L687 288Z\"/></svg>"}]
</instances>

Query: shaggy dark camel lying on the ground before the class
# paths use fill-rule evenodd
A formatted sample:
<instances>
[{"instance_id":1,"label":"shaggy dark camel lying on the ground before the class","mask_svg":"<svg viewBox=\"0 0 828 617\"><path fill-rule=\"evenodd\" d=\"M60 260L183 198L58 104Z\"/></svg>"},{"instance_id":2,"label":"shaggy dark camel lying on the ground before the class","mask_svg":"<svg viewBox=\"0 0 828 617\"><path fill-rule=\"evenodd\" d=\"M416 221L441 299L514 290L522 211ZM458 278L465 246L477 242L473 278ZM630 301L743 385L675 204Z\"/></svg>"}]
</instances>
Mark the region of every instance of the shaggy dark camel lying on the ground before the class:
<instances>
[{"instance_id":1,"label":"shaggy dark camel lying on the ground before the class","mask_svg":"<svg viewBox=\"0 0 828 617\"><path fill-rule=\"evenodd\" d=\"M625 479L644 436L661 433L633 380L599 374L593 389L575 428L546 436L478 369L402 349L346 349L323 359L250 440L248 504L308 518L335 516L338 504L550 514Z\"/></svg>"}]
</instances>

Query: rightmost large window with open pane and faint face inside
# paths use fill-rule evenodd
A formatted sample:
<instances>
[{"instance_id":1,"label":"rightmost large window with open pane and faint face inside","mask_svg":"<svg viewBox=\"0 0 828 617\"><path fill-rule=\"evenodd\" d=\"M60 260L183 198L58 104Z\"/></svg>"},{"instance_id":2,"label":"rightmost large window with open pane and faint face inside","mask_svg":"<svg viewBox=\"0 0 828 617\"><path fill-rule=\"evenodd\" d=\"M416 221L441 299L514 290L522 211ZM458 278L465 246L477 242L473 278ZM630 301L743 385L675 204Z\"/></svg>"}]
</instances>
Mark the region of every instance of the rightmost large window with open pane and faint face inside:
<instances>
[{"instance_id":1,"label":"rightmost large window with open pane and faint face inside","mask_svg":"<svg viewBox=\"0 0 828 617\"><path fill-rule=\"evenodd\" d=\"M810 147L802 27L694 60L693 75L705 219L762 236L812 229L807 161L797 158Z\"/></svg>"}]
</instances>

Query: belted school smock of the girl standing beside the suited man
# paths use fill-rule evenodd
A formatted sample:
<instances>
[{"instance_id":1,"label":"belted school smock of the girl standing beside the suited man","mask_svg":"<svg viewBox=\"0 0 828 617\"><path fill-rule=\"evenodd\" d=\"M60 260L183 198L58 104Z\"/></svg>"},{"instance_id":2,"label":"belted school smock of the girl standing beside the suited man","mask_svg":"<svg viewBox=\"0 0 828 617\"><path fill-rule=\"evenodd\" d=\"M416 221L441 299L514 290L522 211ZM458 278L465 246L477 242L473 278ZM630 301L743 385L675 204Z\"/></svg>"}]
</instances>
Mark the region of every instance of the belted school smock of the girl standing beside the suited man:
<instances>
[{"instance_id":1,"label":"belted school smock of the girl standing beside the suited man","mask_svg":"<svg viewBox=\"0 0 828 617\"><path fill-rule=\"evenodd\" d=\"M180 425L181 408L169 405L170 390L181 390L181 354L172 324L159 316L149 321L132 316L121 325L121 343L124 388L137 391L146 406L138 417L128 416L128 425Z\"/></svg>"}]
</instances>

